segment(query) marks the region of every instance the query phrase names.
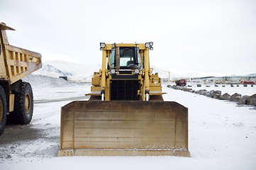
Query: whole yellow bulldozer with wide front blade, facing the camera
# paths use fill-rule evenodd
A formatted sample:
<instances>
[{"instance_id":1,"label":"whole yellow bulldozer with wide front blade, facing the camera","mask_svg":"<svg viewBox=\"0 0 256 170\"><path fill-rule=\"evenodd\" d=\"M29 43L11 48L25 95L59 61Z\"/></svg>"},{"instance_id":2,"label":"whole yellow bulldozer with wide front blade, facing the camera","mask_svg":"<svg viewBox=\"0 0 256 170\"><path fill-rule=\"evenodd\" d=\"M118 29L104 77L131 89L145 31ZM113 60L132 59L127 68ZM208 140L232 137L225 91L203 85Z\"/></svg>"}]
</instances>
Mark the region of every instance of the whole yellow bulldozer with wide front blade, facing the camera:
<instances>
[{"instance_id":1,"label":"whole yellow bulldozer with wide front blade, facing the camera","mask_svg":"<svg viewBox=\"0 0 256 170\"><path fill-rule=\"evenodd\" d=\"M100 43L102 67L89 101L61 108L59 157L190 157L188 108L163 101L161 79L150 68L152 46Z\"/></svg>"}]
</instances>

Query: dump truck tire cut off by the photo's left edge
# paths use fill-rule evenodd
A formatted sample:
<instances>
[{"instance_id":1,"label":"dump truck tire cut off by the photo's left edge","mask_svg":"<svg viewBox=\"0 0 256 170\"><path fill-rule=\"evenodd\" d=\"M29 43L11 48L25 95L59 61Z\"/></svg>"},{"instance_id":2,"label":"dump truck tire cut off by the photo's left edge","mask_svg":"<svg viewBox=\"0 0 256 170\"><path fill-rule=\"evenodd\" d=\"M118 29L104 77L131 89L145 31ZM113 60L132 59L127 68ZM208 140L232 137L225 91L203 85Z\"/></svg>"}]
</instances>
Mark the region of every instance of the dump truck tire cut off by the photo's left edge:
<instances>
[{"instance_id":1,"label":"dump truck tire cut off by the photo's left edge","mask_svg":"<svg viewBox=\"0 0 256 170\"><path fill-rule=\"evenodd\" d=\"M0 86L0 135L4 132L4 127L6 125L6 113L7 113L7 103L6 94L2 86Z\"/></svg>"}]
</instances>

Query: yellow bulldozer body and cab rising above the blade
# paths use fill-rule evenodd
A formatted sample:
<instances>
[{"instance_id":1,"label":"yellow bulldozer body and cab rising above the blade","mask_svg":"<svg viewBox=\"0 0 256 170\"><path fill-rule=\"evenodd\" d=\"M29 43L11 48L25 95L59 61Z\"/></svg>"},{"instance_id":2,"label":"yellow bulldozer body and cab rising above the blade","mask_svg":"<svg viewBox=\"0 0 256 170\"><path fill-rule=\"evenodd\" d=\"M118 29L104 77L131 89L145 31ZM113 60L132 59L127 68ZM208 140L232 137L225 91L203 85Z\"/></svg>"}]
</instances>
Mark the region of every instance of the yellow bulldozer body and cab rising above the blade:
<instances>
[{"instance_id":1,"label":"yellow bulldozer body and cab rising above the blade","mask_svg":"<svg viewBox=\"0 0 256 170\"><path fill-rule=\"evenodd\" d=\"M92 78L91 98L101 96L101 101L149 101L150 97L162 100L161 79L150 69L152 42L101 42L100 45L102 67Z\"/></svg>"}]
</instances>

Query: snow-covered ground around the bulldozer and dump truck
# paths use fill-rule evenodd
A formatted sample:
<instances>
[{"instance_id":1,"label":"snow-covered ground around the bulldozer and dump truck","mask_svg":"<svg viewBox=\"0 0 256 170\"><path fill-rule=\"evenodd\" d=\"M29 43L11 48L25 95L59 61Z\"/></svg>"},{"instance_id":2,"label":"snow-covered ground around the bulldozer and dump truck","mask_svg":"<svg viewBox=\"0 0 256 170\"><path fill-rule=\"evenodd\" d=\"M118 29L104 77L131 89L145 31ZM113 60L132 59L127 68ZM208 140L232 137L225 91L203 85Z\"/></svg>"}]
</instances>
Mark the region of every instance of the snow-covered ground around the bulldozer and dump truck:
<instances>
[{"instance_id":1,"label":"snow-covered ground around the bulldozer and dump truck","mask_svg":"<svg viewBox=\"0 0 256 170\"><path fill-rule=\"evenodd\" d=\"M31 76L34 115L30 125L7 125L0 137L0 169L256 169L256 108L238 106L199 94L169 89L165 101L189 108L189 151L185 157L57 157L60 142L60 107L74 98L87 100L90 84ZM207 87L208 88L208 87ZM210 87L211 88L211 87ZM214 87L212 87L214 88ZM221 87L220 87L221 88ZM201 87L206 89L206 87ZM224 88L223 88L224 89ZM221 89L221 91L223 91ZM226 91L256 94L256 87L226 86ZM207 89L208 90L208 89ZM209 89L210 90L210 89ZM229 94L233 94L230 92ZM18 129L35 137L6 142L3 136Z\"/></svg>"}]
</instances>

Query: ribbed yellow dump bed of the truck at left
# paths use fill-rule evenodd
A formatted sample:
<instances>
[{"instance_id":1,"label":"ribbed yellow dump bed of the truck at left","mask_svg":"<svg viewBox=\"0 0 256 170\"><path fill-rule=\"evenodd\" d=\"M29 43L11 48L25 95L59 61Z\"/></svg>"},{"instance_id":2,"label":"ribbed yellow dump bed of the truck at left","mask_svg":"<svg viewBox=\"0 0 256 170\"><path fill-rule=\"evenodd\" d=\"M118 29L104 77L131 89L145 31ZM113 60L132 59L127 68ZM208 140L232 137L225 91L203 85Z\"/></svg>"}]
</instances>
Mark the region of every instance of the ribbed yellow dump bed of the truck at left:
<instances>
[{"instance_id":1,"label":"ribbed yellow dump bed of the truck at left","mask_svg":"<svg viewBox=\"0 0 256 170\"><path fill-rule=\"evenodd\" d=\"M9 45L6 30L14 29L4 23L0 23L0 28L0 79L9 79L13 84L42 67L41 55L38 52Z\"/></svg>"}]
</instances>

